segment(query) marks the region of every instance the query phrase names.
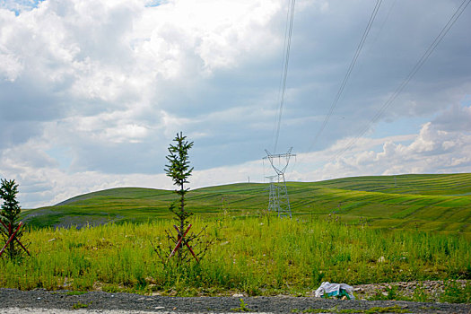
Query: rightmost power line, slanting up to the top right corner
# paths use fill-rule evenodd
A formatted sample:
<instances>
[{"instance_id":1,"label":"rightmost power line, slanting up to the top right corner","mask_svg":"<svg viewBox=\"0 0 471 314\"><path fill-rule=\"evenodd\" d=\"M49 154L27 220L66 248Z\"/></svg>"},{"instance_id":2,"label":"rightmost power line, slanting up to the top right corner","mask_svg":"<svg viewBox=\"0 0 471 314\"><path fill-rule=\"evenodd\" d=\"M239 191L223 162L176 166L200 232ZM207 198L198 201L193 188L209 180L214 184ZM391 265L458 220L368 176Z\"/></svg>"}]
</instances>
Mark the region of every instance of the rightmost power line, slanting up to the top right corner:
<instances>
[{"instance_id":1,"label":"rightmost power line, slanting up to the top right corner","mask_svg":"<svg viewBox=\"0 0 471 314\"><path fill-rule=\"evenodd\" d=\"M397 86L396 91L388 98L388 100L382 105L382 107L376 112L373 118L371 118L370 122L363 127L359 134L356 135L352 141L349 142L345 146L345 148L340 151L340 153L337 153L336 158L342 156L346 151L348 151L353 144L358 141L362 135L364 135L368 130L370 129L371 125L379 120L379 118L384 114L386 109L394 102L394 100L397 99L397 96L406 88L406 85L411 81L411 79L414 77L414 75L420 70L422 65L427 61L427 59L432 55L433 50L437 48L437 46L440 44L441 40L445 37L445 35L449 32L451 27L455 24L455 22L458 21L459 16L466 10L467 5L471 2L471 0L464 0L459 6L457 11L451 16L449 19L449 22L445 24L445 26L441 29L440 33L438 36L432 41L432 44L430 45L429 48L423 53L423 56L417 61L417 63L414 65L412 68L411 72L407 74L406 78L402 83Z\"/></svg>"}]
</instances>

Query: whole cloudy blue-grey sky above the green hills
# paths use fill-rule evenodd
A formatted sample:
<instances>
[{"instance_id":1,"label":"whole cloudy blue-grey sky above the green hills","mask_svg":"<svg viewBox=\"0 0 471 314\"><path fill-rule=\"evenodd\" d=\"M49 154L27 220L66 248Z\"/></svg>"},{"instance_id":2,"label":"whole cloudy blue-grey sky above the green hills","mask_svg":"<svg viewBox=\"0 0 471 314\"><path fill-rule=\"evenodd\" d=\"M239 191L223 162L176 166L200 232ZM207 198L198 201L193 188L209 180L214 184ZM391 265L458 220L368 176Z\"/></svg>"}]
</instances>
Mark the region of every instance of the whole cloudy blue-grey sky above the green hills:
<instances>
[{"instance_id":1,"label":"whole cloudy blue-grey sky above the green hills","mask_svg":"<svg viewBox=\"0 0 471 314\"><path fill-rule=\"evenodd\" d=\"M105 188L171 189L165 156L194 142L188 188L285 175L471 172L471 5L402 92L462 0L0 0L0 177L23 208ZM283 167L284 159L275 159Z\"/></svg>"}]
</instances>

